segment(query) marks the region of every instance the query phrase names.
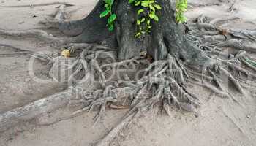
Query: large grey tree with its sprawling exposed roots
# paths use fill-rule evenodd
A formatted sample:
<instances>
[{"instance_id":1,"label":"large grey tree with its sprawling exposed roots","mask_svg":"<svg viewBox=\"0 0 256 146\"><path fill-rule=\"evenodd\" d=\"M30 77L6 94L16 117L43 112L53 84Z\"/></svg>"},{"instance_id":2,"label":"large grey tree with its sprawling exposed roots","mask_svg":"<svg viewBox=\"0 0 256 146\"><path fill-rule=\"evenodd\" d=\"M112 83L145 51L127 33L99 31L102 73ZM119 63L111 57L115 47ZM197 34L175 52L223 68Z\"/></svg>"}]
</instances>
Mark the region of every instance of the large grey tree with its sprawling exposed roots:
<instances>
[{"instance_id":1,"label":"large grey tree with its sprawling exposed roots","mask_svg":"<svg viewBox=\"0 0 256 146\"><path fill-rule=\"evenodd\" d=\"M219 79L224 75L238 93L244 93L238 80L241 81L244 77L255 78L255 75L249 72L256 71L255 62L246 56L245 51L228 54L223 53L219 47L243 47L245 50L255 52L255 46L241 43L249 42L249 39L255 40L255 31L230 31L214 26L219 21L234 18L209 21L208 18L201 16L194 23L179 24L175 17L177 11L172 9L170 0L153 2L159 6L155 9L158 18L156 20L151 17L155 20L151 20L150 31L143 32L140 37L135 37L139 27L137 20L140 20L138 10L143 8L145 12L151 8L129 4L128 0L113 1L111 14L116 14L115 21L109 22L112 24L108 25L113 25L113 28L107 27L108 18L99 17L106 10L106 1L99 0L83 20L64 21L64 6L61 5L55 20L42 22L48 27L59 28L59 31L72 37L59 39L42 31L1 31L1 34L12 36L33 34L40 39L58 42L72 50L77 55L75 64L72 65L75 70L72 77L82 79L74 82L73 87L83 88L86 94L74 102L71 100L74 90L68 88L26 107L6 112L0 115L0 131L70 103L84 105L82 110L72 116L99 107L97 120L100 120L107 105L115 105L115 108L129 106L130 110L123 122L97 144L108 145L118 131L140 111L150 110L154 105L161 105L167 114L170 114L171 106L196 112L200 101L195 93L187 89L188 82L202 85L219 96L233 98L225 88L225 82ZM111 15L108 13L105 16ZM53 66L56 63L56 60L49 59L47 55L40 58L53 62ZM242 64L246 68L242 68ZM122 72L121 78L106 79L109 74L116 72L116 69L130 68L140 73L143 70L143 74L135 77L136 72ZM228 72L228 69L232 72ZM95 83L92 80L100 82ZM124 101L125 105L121 104Z\"/></svg>"}]
</instances>

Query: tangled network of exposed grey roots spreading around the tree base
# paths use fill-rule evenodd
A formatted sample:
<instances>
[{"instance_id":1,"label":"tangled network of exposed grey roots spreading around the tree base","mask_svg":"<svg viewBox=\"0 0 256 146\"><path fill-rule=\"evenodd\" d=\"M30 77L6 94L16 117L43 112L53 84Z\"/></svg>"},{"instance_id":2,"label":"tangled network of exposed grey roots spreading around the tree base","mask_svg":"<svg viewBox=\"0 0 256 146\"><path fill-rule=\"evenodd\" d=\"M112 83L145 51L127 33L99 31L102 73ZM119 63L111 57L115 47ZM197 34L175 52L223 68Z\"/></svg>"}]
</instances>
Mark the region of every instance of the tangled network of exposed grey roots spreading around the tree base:
<instances>
[{"instance_id":1,"label":"tangled network of exposed grey roots spreading around the tree base","mask_svg":"<svg viewBox=\"0 0 256 146\"><path fill-rule=\"evenodd\" d=\"M162 4L162 6L164 6L164 4ZM94 15L97 14L96 10L93 12ZM119 15L125 16L123 13ZM89 18L90 17L91 16L89 16ZM54 22L58 25L59 22L64 20L64 5L59 7L55 19ZM124 120L122 120L116 128L113 128L102 141L97 142L97 146L102 146L109 145L132 119L137 118L140 111L147 111L155 106L160 106L167 115L171 114L171 107L177 107L180 110L189 112L197 112L197 107L200 107L200 100L195 93L188 90L187 82L201 85L213 91L218 96L223 98L231 97L236 101L232 94L225 89L220 77L225 76L230 81L230 85L233 85L238 93L244 94L244 89L240 85L239 80L244 76L252 76L252 72L249 72L244 66L241 66L241 63L254 72L256 71L254 64L252 64L254 61L248 62L248 60L246 60L246 52L240 51L236 54L227 54L222 52L222 49L219 47L236 47L238 50L247 50L256 53L256 47L254 45L241 43L245 42L246 39L253 40L255 38L255 32L227 31L227 33L224 33L226 31L216 28L214 24L223 20L231 20L231 18L212 20L211 23L206 23L203 19L204 17L202 16L202 18L198 19L197 23L187 25L190 36L195 40L198 39L197 45L200 49L186 42L185 40L187 39L185 37L174 36L178 39L173 39L174 37L170 34L183 35L180 31L176 31L176 27L164 31L157 30L159 31L155 33L157 39L154 38L152 41L154 43L151 45L154 45L154 47L158 49L157 53L159 53L159 56L156 55L154 58L160 58L161 60L156 59L156 61L151 64L148 64L151 62L148 61L148 58L143 57L135 57L116 62L116 58L120 57L120 52L118 53L117 51L120 50L108 48L103 45L90 45L87 43L67 45L66 47L75 54L75 58L63 59L64 61L73 61L73 64L68 65L65 70L73 70L69 79L75 77L82 79L81 82L74 81L72 83L75 89L82 88L83 91L77 93L75 95L76 98L72 98L72 96L74 96L73 90L69 88L67 91L57 93L39 101L34 101L25 107L5 112L0 115L0 132L6 131L11 126L20 122L31 120L43 112L55 110L64 105L82 105L80 110L72 113L68 118L80 115L86 111L98 109L99 112L95 116L95 123L102 120L105 115L105 110L108 107L129 107L129 112L125 115ZM90 20L88 22L90 23ZM124 32L122 33L126 34L126 29L129 28L129 26L127 26L127 22L123 23L118 25L124 27ZM159 24L162 23L159 21ZM71 25L70 28L78 25L78 23L75 23L75 25L72 26L71 22L65 24L67 24L67 27ZM117 29L120 27L118 25ZM168 25L174 24L170 22ZM99 21L99 26L97 27L101 28L102 26L105 28L105 22ZM162 26L165 26L165 24L162 24ZM157 28L162 28L162 26ZM88 30L84 31L87 32ZM94 29L89 30L89 34L93 31ZM95 33L97 34L98 32ZM45 31L38 30L0 30L0 34L12 37L37 37L49 42L59 42L62 45L64 42L67 42L67 40L64 41L64 39L52 37ZM102 35L103 34L104 33L102 33ZM108 34L99 36L99 38L103 39L105 35ZM118 36L118 38L116 38L118 39L118 45L121 45L122 49L131 47L122 44L127 40L129 40L129 43L135 42L134 35L131 34L131 36L132 37ZM242 39L238 41L238 39L230 38ZM94 39L86 38L89 42L94 42ZM71 40L75 39L69 39L69 42L71 42ZM170 40L173 41L173 44ZM135 44L136 43L137 42L135 42ZM186 45L184 45L185 48L184 46L181 47L178 45L182 43L186 43ZM138 46L135 46L135 49L137 49L136 47ZM121 56L121 58L127 58L125 54L127 50L123 51L124 56ZM131 53L129 55L133 54ZM54 66L58 67L59 59L53 58L52 60L53 68ZM225 67L228 68L226 69ZM129 73L129 69L133 72L137 72L140 69L140 74ZM228 69L230 69L230 72ZM121 74L120 78L116 77L116 79L113 77L109 80L108 72L118 72L118 70L124 71L118 74ZM86 90L85 88L89 89ZM115 107L113 107L113 105L115 105ZM62 120L65 119L67 118L63 118Z\"/></svg>"}]
</instances>

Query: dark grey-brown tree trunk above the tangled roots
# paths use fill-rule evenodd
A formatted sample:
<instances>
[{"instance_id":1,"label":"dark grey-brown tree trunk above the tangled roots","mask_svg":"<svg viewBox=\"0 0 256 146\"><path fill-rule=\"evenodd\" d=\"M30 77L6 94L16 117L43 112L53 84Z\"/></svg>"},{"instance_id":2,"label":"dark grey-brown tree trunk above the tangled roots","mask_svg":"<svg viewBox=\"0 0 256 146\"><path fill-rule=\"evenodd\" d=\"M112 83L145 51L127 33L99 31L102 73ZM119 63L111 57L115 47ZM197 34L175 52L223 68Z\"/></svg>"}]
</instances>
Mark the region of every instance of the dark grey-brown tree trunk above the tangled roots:
<instances>
[{"instance_id":1,"label":"dark grey-brown tree trunk above the tangled roots","mask_svg":"<svg viewBox=\"0 0 256 146\"><path fill-rule=\"evenodd\" d=\"M109 32L107 20L99 18L104 11L104 1L100 0L94 10L83 20L72 21L60 25L61 30L72 30L83 28L82 34L76 37L75 42L102 42L112 37L118 50L118 60L126 60L138 56L140 52L146 51L154 60L162 60L167 54L176 55L187 64L193 62L202 65L209 59L202 54L199 48L192 45L183 31L176 23L171 1L157 0L162 9L157 11L159 22L153 22L151 34L143 39L135 38L136 33L136 9L127 0L116 0L113 12L116 13L115 31Z\"/></svg>"}]
</instances>

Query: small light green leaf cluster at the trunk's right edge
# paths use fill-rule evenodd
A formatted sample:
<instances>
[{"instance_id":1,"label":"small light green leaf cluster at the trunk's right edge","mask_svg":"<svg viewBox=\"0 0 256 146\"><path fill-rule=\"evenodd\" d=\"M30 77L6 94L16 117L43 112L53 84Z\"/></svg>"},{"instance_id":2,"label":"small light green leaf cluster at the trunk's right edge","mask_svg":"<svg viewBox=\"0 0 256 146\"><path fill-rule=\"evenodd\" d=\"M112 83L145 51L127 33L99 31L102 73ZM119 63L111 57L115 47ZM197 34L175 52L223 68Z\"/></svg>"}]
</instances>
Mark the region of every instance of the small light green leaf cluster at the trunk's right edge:
<instances>
[{"instance_id":1,"label":"small light green leaf cluster at the trunk's right edge","mask_svg":"<svg viewBox=\"0 0 256 146\"><path fill-rule=\"evenodd\" d=\"M184 23L187 21L187 18L184 15L184 12L187 11L187 0L176 0L176 22Z\"/></svg>"}]
</instances>

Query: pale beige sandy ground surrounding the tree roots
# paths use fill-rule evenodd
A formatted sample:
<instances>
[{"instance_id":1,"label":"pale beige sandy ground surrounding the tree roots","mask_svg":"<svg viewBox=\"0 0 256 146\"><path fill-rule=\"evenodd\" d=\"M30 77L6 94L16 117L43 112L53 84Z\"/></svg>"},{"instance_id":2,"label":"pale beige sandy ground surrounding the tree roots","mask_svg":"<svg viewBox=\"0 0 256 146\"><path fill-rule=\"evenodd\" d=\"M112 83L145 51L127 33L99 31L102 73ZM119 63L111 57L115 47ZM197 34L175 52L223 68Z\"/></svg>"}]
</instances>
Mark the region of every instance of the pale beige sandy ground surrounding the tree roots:
<instances>
[{"instance_id":1,"label":"pale beige sandy ground surrounding the tree roots","mask_svg":"<svg viewBox=\"0 0 256 146\"><path fill-rule=\"evenodd\" d=\"M62 0L59 0L61 2ZM0 28L8 30L26 30L42 28L39 20L48 18L56 12L56 5L43 7L7 8L3 6L42 4L56 2L54 0L0 0ZM77 20L85 17L96 3L95 0L69 0L75 4L68 7L67 20ZM229 12L228 1L220 6L209 5L219 0L203 1L191 0L194 7L189 9L189 20L204 14L209 18L227 17L235 15L241 18L224 24L222 28L255 29L256 28L256 1L238 0L235 4L237 10ZM196 7L200 4L200 7ZM0 44L9 44L26 50L56 52L49 44L33 38L12 39L0 37ZM0 57L0 113L41 99L44 96L64 90L67 85L61 82L40 84L29 76L28 55L15 55L10 47L0 47L0 54L9 54ZM252 57L256 55L252 54ZM39 61L35 63L36 74L48 78L48 67ZM256 90L247 89L246 96L236 95L238 103L231 99L221 99L210 96L205 88L194 86L191 91L199 94L203 106L200 115L173 110L170 117L161 114L159 110L146 113L145 116L131 123L124 131L127 137L118 137L111 145L122 146L170 146L170 145L209 145L233 146L255 145L256 143ZM64 120L59 123L42 126L50 123L61 115L67 115L69 110L58 110L42 115L41 118L23 126L14 127L0 137L0 146L85 146L92 145L102 138L108 131L120 122L126 111L108 111L104 123L93 125L94 112Z\"/></svg>"}]
</instances>

